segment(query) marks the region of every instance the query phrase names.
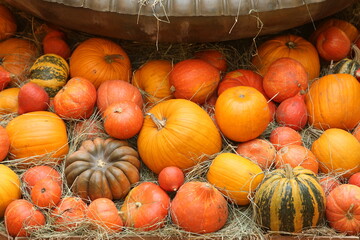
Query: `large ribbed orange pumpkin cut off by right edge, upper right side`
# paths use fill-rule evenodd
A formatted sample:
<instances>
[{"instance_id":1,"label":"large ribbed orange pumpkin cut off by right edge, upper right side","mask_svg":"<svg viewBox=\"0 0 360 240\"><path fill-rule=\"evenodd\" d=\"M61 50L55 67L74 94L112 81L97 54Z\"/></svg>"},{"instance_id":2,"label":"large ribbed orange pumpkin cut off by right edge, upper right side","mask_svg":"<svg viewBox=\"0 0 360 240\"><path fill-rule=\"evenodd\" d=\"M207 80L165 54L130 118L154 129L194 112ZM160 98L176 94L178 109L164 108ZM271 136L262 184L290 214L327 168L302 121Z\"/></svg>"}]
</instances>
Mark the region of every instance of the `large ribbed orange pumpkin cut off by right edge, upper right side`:
<instances>
[{"instance_id":1,"label":"large ribbed orange pumpkin cut off by right edge, upper right side","mask_svg":"<svg viewBox=\"0 0 360 240\"><path fill-rule=\"evenodd\" d=\"M360 83L350 74L329 74L311 84L305 97L309 124L350 130L360 122Z\"/></svg>"}]
</instances>

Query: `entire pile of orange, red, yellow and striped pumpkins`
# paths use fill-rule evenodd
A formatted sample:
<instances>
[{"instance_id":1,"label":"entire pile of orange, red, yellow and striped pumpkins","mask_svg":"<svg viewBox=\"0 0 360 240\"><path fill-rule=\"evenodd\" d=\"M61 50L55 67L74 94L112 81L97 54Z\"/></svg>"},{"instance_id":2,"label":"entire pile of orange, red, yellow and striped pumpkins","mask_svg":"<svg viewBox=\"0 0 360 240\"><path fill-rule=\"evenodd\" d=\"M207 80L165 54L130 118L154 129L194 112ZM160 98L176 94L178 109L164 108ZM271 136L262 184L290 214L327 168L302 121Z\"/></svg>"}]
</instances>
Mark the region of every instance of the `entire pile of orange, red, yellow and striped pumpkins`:
<instances>
[{"instance_id":1,"label":"entire pile of orange, red, yellow and striped pumpkins","mask_svg":"<svg viewBox=\"0 0 360 240\"><path fill-rule=\"evenodd\" d=\"M15 37L5 6L0 25L0 216L9 235L31 236L46 221L55 231L84 222L149 231L169 213L185 231L211 233L226 225L228 203L252 204L264 230L301 232L326 219L360 234L360 34L350 22L328 19L310 39L266 40L252 69L227 71L231 59L207 49L134 72L110 39L71 49L63 31L43 25L39 49ZM330 66L322 75L321 63ZM70 151L70 123L107 137ZM311 147L308 128L321 132ZM206 181L186 180L204 161ZM156 183L141 179L142 164ZM63 197L64 184L73 196Z\"/></svg>"}]
</instances>

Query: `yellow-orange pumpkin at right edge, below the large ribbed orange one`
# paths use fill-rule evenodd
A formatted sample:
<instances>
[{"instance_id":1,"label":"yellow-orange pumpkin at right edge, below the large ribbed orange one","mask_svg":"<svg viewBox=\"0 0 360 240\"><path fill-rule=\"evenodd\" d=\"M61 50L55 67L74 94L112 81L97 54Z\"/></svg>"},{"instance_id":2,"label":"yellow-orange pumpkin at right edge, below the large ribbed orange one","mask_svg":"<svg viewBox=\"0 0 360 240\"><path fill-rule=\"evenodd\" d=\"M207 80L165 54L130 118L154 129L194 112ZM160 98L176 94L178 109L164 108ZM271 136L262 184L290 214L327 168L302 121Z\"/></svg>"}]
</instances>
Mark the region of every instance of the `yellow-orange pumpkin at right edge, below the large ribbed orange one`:
<instances>
[{"instance_id":1,"label":"yellow-orange pumpkin at right edge, below the large ribbed orange one","mask_svg":"<svg viewBox=\"0 0 360 240\"><path fill-rule=\"evenodd\" d=\"M360 142L349 132L330 128L311 147L323 173L340 173L345 178L360 171Z\"/></svg>"}]
</instances>

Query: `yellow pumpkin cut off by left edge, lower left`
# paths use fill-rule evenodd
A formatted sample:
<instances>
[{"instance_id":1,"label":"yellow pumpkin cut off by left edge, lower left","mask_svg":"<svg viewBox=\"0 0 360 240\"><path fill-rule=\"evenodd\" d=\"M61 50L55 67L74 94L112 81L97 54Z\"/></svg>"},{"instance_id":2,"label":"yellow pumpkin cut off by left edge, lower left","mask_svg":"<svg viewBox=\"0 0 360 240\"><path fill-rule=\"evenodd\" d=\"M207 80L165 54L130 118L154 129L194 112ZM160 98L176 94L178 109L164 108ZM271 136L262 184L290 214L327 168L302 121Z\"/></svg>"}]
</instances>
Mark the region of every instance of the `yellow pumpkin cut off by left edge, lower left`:
<instances>
[{"instance_id":1,"label":"yellow pumpkin cut off by left edge, lower left","mask_svg":"<svg viewBox=\"0 0 360 240\"><path fill-rule=\"evenodd\" d=\"M20 178L6 165L0 164L0 218L4 217L6 207L21 197Z\"/></svg>"}]
</instances>

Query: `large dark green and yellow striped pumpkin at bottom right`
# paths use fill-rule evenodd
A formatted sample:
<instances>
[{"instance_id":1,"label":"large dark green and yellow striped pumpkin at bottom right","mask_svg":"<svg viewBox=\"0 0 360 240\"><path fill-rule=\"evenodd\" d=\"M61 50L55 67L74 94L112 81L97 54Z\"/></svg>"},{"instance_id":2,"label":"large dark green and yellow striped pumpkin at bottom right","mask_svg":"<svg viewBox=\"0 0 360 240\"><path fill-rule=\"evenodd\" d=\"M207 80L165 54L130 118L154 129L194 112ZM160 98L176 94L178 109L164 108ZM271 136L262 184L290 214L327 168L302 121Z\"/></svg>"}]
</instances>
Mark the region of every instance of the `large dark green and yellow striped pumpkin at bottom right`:
<instances>
[{"instance_id":1,"label":"large dark green and yellow striped pumpkin at bottom right","mask_svg":"<svg viewBox=\"0 0 360 240\"><path fill-rule=\"evenodd\" d=\"M254 196L256 222L271 231L301 232L325 214L325 194L315 173L301 166L269 172Z\"/></svg>"}]
</instances>

